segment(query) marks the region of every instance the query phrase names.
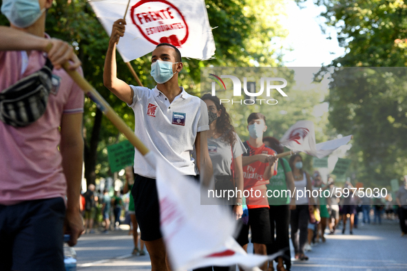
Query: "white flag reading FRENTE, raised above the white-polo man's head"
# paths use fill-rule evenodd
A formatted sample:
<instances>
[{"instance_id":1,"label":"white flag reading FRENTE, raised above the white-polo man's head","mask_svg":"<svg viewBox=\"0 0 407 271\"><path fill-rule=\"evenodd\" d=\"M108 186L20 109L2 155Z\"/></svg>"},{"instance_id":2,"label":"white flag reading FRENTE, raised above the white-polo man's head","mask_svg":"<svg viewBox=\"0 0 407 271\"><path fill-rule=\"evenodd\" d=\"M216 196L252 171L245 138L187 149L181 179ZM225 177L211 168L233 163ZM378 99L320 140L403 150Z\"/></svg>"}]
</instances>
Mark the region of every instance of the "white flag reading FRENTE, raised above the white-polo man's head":
<instances>
[{"instance_id":1,"label":"white flag reading FRENTE, raised above the white-polo man's head","mask_svg":"<svg viewBox=\"0 0 407 271\"><path fill-rule=\"evenodd\" d=\"M107 34L123 19L128 0L90 0ZM125 62L152 52L158 43L170 43L182 56L209 59L215 42L204 0L131 0L125 17L126 31L118 45Z\"/></svg>"}]
</instances>

